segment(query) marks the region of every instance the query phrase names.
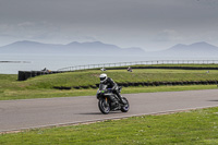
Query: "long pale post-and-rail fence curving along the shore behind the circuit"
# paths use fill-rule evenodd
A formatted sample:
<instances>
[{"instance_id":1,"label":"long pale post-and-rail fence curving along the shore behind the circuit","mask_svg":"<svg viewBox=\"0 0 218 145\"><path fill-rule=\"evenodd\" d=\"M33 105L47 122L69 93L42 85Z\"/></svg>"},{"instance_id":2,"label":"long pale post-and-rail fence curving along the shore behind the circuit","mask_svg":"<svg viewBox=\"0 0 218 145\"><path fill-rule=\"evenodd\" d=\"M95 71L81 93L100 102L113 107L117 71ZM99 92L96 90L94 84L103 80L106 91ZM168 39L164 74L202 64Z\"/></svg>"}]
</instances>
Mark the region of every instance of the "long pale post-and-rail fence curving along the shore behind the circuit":
<instances>
[{"instance_id":1,"label":"long pale post-and-rail fence curving along the shore behind the circuit","mask_svg":"<svg viewBox=\"0 0 218 145\"><path fill-rule=\"evenodd\" d=\"M117 63L101 63L101 64L86 64L75 65L59 69L58 71L76 71L97 68L111 68L111 67L128 67L140 64L217 64L218 60L152 60L152 61L133 61L133 62L117 62Z\"/></svg>"}]
</instances>

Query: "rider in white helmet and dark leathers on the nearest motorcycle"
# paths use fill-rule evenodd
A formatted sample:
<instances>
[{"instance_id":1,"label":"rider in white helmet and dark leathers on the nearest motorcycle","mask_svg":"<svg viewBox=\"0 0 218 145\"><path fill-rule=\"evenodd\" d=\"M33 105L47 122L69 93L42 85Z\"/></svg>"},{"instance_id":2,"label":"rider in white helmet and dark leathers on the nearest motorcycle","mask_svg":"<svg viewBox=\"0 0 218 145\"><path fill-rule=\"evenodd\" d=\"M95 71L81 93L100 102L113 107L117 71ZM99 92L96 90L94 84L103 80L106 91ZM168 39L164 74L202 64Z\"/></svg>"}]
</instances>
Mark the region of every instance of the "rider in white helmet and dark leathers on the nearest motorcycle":
<instances>
[{"instance_id":1,"label":"rider in white helmet and dark leathers on the nearest motorcycle","mask_svg":"<svg viewBox=\"0 0 218 145\"><path fill-rule=\"evenodd\" d=\"M99 77L100 77L100 83L104 85L107 85L108 88L111 88L112 93L114 93L121 100L121 104L124 105L125 102L123 101L122 96L119 93L118 84L116 82L113 82L112 78L108 77L107 74L105 74L105 73L100 74Z\"/></svg>"}]
</instances>

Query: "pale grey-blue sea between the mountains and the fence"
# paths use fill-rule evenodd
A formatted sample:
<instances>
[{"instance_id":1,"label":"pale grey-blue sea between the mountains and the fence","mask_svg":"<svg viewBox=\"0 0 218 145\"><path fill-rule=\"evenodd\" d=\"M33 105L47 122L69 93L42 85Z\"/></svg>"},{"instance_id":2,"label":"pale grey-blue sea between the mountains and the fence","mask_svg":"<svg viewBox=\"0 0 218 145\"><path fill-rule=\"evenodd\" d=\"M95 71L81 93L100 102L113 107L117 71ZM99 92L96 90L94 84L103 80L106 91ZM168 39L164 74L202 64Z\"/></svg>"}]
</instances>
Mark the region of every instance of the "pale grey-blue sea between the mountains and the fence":
<instances>
[{"instance_id":1,"label":"pale grey-blue sea between the mountains and the fence","mask_svg":"<svg viewBox=\"0 0 218 145\"><path fill-rule=\"evenodd\" d=\"M71 56L71 55L0 55L0 74L17 74L19 71L57 71L62 68L162 60L218 60L218 57L161 57L161 56Z\"/></svg>"}]
</instances>

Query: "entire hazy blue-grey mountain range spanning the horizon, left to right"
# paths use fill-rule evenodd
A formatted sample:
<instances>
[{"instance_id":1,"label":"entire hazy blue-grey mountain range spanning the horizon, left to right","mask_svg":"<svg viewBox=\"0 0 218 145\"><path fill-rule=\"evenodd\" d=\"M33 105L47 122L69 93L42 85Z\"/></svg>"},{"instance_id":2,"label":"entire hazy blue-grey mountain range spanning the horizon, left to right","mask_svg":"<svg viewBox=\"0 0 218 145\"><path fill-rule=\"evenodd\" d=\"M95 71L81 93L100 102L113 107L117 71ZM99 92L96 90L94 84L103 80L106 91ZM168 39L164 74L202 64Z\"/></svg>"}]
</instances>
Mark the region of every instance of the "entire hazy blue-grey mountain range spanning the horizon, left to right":
<instances>
[{"instance_id":1,"label":"entire hazy blue-grey mountain range spanning the horizon, left to right","mask_svg":"<svg viewBox=\"0 0 218 145\"><path fill-rule=\"evenodd\" d=\"M44 55L141 55L141 56L218 56L218 47L205 41L191 45L178 44L169 49L161 51L144 51L142 48L120 48L116 45L104 44L100 41L77 43L68 45L41 44L36 41L16 41L0 47L0 53L44 53Z\"/></svg>"}]
</instances>

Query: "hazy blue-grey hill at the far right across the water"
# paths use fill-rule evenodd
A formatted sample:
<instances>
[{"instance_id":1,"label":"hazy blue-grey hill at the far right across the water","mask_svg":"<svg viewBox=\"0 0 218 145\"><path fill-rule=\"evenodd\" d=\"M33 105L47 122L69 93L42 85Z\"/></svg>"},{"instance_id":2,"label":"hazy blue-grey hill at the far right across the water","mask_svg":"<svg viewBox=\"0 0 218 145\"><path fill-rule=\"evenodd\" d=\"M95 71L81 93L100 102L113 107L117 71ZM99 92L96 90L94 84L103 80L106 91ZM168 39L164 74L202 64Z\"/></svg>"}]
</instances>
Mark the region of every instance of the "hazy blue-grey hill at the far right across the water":
<instances>
[{"instance_id":1,"label":"hazy blue-grey hill at the far right across the water","mask_svg":"<svg viewBox=\"0 0 218 145\"><path fill-rule=\"evenodd\" d=\"M218 47L201 41L192 45L175 45L167 50L161 51L169 56L217 56Z\"/></svg>"}]
</instances>

